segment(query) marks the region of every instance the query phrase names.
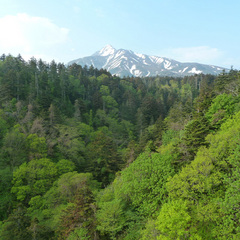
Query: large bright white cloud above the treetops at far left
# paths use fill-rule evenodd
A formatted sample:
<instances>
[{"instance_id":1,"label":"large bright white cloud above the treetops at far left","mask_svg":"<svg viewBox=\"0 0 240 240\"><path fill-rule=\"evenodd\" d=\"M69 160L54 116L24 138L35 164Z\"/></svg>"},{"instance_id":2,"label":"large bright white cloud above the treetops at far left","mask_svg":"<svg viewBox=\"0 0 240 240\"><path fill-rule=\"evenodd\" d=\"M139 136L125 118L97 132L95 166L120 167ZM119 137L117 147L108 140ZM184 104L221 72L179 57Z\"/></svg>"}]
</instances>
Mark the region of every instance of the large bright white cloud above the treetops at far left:
<instances>
[{"instance_id":1,"label":"large bright white cloud above the treetops at far left","mask_svg":"<svg viewBox=\"0 0 240 240\"><path fill-rule=\"evenodd\" d=\"M0 54L21 54L23 57L44 56L57 45L65 43L69 30L61 28L48 18L27 14L0 18ZM50 60L50 59L44 59Z\"/></svg>"}]
</instances>

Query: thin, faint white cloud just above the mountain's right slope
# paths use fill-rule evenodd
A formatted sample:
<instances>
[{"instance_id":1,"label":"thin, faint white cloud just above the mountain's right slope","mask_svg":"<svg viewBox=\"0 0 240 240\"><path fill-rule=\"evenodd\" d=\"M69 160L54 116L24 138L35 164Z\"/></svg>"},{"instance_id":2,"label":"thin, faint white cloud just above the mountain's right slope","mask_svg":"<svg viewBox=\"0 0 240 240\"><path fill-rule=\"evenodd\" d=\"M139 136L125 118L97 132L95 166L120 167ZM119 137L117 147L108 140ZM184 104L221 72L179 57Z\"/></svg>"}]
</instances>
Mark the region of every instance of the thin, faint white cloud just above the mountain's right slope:
<instances>
[{"instance_id":1,"label":"thin, faint white cloud just above the mountain's right slope","mask_svg":"<svg viewBox=\"0 0 240 240\"><path fill-rule=\"evenodd\" d=\"M213 64L223 56L217 48L208 46L172 48L164 51L165 56L181 62L199 62Z\"/></svg>"}]
</instances>

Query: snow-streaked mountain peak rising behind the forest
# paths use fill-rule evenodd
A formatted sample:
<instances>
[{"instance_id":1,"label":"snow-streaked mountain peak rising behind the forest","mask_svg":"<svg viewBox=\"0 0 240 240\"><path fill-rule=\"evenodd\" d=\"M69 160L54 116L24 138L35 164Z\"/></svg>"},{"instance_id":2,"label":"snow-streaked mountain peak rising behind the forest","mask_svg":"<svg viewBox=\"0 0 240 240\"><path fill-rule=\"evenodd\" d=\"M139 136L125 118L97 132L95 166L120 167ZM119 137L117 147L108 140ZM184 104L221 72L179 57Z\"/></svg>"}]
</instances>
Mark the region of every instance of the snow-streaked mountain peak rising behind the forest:
<instances>
[{"instance_id":1,"label":"snow-streaked mountain peak rising behind the forest","mask_svg":"<svg viewBox=\"0 0 240 240\"><path fill-rule=\"evenodd\" d=\"M187 76L194 74L219 74L225 68L199 63L181 63L165 57L148 56L131 50L115 49L107 45L92 56L79 58L71 65L93 66L106 69L117 76ZM227 69L225 69L227 70Z\"/></svg>"}]
</instances>

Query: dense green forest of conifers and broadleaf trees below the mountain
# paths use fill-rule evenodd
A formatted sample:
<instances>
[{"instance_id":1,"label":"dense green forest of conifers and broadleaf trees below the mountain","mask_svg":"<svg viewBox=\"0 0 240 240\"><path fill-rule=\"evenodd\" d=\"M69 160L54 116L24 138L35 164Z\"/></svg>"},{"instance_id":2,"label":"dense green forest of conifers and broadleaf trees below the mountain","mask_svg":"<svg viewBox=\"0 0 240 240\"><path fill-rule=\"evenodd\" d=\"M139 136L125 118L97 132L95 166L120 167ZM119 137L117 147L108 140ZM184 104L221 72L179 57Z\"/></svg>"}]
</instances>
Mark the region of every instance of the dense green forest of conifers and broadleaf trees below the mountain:
<instances>
[{"instance_id":1,"label":"dense green forest of conifers and broadleaf trees below the mountain","mask_svg":"<svg viewBox=\"0 0 240 240\"><path fill-rule=\"evenodd\" d=\"M2 55L0 239L240 239L239 94Z\"/></svg>"}]
</instances>

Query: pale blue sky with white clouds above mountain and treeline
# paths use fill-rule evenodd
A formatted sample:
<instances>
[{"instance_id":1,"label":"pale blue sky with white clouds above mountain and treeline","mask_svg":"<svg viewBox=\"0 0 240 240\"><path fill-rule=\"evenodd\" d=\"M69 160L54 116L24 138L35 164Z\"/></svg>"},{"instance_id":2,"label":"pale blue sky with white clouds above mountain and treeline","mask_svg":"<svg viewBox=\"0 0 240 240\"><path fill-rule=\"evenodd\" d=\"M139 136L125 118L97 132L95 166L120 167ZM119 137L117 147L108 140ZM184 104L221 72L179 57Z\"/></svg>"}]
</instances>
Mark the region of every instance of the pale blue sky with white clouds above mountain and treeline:
<instances>
[{"instance_id":1,"label":"pale blue sky with white clouds above mountain and treeline","mask_svg":"<svg viewBox=\"0 0 240 240\"><path fill-rule=\"evenodd\" d=\"M67 63L107 44L240 69L239 0L0 0L0 54Z\"/></svg>"}]
</instances>

